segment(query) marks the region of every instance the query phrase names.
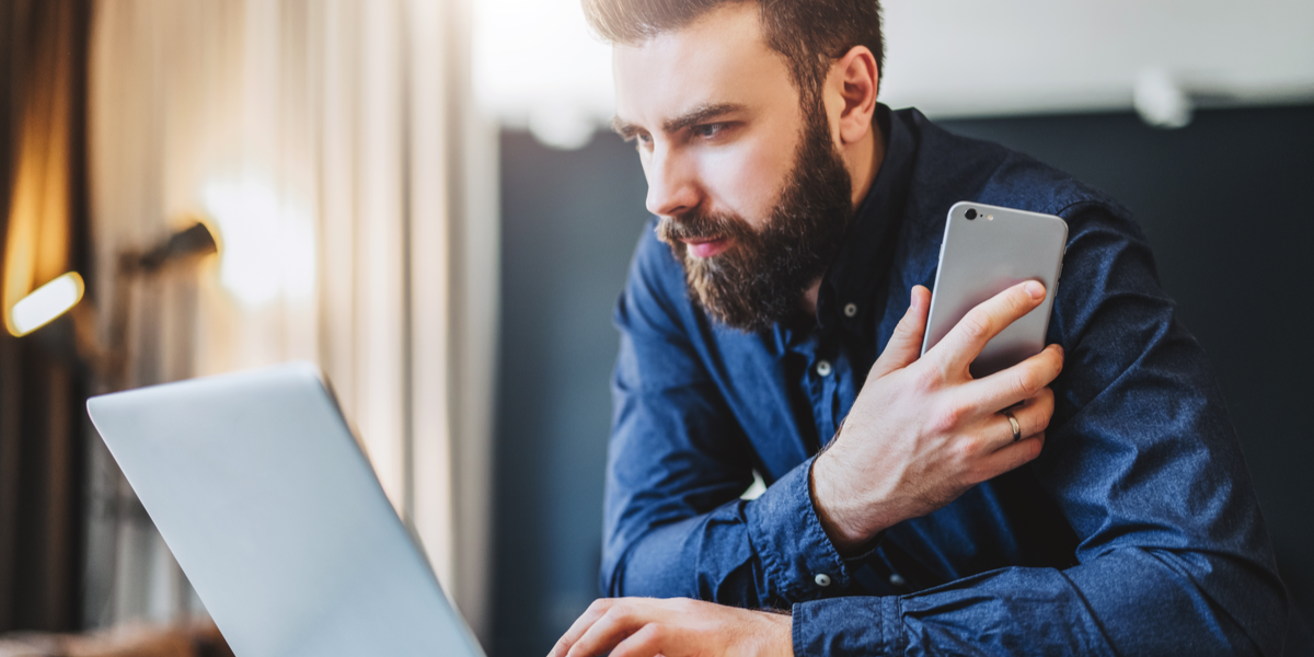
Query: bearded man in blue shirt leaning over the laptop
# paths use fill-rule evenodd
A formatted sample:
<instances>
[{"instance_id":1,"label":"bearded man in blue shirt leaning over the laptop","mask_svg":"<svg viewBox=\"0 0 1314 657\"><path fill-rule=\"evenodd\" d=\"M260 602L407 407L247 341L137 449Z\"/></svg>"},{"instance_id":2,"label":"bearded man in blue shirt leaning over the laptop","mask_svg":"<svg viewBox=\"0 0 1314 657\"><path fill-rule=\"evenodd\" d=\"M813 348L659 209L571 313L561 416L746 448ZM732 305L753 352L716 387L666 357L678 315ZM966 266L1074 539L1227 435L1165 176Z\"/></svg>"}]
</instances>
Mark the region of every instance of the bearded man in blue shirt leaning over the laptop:
<instances>
[{"instance_id":1,"label":"bearded man in blue shirt leaning over the laptop","mask_svg":"<svg viewBox=\"0 0 1314 657\"><path fill-rule=\"evenodd\" d=\"M878 104L875 0L585 11L657 219L615 314L600 585L628 598L555 654L1281 652L1223 401L1123 208ZM1070 227L1050 346L979 380L1047 290L918 357L963 200Z\"/></svg>"}]
</instances>

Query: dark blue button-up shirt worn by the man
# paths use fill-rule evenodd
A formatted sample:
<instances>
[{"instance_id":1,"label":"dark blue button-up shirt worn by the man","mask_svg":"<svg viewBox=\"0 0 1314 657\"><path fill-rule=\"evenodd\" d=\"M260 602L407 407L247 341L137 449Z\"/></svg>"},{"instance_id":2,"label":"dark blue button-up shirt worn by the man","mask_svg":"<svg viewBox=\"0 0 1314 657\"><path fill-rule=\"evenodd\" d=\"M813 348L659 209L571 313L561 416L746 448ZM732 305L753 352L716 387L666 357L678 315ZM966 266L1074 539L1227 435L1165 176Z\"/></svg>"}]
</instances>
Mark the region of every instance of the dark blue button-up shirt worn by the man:
<instances>
[{"instance_id":1,"label":"dark blue button-up shirt worn by the man","mask_svg":"<svg viewBox=\"0 0 1314 657\"><path fill-rule=\"evenodd\" d=\"M670 250L640 239L615 311L602 593L792 608L799 656L1279 653L1286 598L1250 474L1127 210L916 110L882 106L878 124L886 159L815 318L717 325ZM932 286L963 200L1068 223L1047 442L846 558L809 468L911 288ZM740 499L753 470L766 493Z\"/></svg>"}]
</instances>

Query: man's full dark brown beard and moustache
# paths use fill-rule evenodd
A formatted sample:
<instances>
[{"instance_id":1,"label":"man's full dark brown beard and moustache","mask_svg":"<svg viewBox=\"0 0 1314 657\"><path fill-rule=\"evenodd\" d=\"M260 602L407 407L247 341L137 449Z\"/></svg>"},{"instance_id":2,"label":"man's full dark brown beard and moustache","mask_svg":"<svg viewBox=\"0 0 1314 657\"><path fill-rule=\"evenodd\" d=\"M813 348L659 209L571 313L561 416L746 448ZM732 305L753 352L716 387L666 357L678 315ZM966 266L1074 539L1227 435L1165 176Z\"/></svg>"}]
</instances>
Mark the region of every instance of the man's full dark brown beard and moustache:
<instances>
[{"instance_id":1,"label":"man's full dark brown beard and moustache","mask_svg":"<svg viewBox=\"0 0 1314 657\"><path fill-rule=\"evenodd\" d=\"M803 139L770 219L754 230L737 214L662 217L657 238L685 265L690 296L714 319L745 332L799 311L803 292L838 254L853 222L851 179L830 141L824 110L807 112ZM732 238L729 250L698 258L681 239Z\"/></svg>"}]
</instances>

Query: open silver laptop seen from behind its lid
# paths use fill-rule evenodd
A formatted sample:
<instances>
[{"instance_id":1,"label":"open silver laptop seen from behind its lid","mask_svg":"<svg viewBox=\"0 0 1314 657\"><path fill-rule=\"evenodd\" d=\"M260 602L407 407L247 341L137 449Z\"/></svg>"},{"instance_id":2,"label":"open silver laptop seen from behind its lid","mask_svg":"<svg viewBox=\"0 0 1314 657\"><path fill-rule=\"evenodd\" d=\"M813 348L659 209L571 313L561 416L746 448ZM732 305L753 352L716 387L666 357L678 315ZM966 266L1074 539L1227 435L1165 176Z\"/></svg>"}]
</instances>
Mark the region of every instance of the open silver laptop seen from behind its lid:
<instances>
[{"instance_id":1,"label":"open silver laptop seen from behind its lid","mask_svg":"<svg viewBox=\"0 0 1314 657\"><path fill-rule=\"evenodd\" d=\"M87 410L238 657L484 654L317 367Z\"/></svg>"}]
</instances>

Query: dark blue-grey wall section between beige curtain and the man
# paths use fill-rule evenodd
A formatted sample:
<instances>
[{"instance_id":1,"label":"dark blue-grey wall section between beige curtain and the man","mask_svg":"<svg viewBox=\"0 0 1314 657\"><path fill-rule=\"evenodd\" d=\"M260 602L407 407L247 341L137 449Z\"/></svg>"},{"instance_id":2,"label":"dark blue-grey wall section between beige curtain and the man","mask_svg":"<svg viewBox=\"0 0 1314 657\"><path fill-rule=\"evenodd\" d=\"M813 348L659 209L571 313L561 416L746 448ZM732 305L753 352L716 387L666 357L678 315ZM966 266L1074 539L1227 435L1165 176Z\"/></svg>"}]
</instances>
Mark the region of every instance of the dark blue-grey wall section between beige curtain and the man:
<instances>
[{"instance_id":1,"label":"dark blue-grey wall section between beige curtain and the man","mask_svg":"<svg viewBox=\"0 0 1314 657\"><path fill-rule=\"evenodd\" d=\"M494 656L541 656L597 597L611 310L644 212L611 134L578 151L502 134Z\"/></svg>"}]
</instances>

